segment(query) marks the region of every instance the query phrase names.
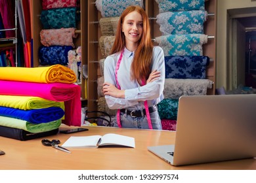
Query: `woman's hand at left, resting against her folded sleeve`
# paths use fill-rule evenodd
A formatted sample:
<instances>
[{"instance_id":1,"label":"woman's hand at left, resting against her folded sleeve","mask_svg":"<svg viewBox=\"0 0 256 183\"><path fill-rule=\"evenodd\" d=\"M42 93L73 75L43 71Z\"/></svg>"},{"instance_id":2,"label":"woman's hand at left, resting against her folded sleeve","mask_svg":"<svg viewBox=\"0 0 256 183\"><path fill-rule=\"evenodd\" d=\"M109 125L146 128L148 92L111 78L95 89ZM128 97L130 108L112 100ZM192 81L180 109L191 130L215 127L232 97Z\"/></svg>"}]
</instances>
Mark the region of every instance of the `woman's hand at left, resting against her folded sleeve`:
<instances>
[{"instance_id":1,"label":"woman's hand at left, resting against her folded sleeve","mask_svg":"<svg viewBox=\"0 0 256 183\"><path fill-rule=\"evenodd\" d=\"M125 90L119 90L114 86L114 84L110 84L108 82L104 82L103 84L103 93L104 95L110 95L112 97L124 98Z\"/></svg>"}]
</instances>

